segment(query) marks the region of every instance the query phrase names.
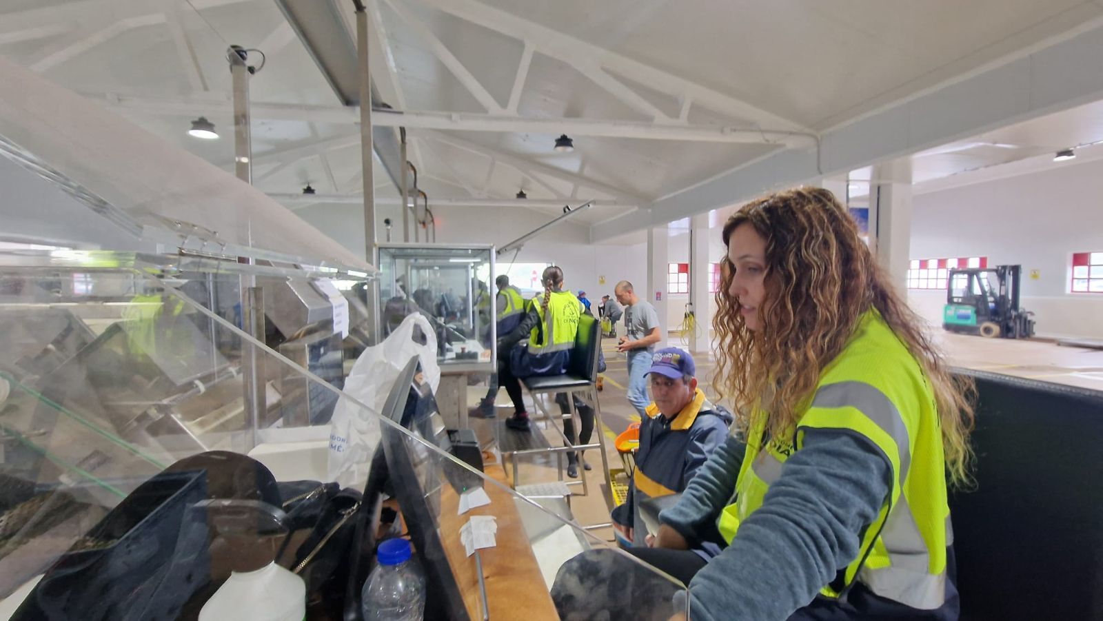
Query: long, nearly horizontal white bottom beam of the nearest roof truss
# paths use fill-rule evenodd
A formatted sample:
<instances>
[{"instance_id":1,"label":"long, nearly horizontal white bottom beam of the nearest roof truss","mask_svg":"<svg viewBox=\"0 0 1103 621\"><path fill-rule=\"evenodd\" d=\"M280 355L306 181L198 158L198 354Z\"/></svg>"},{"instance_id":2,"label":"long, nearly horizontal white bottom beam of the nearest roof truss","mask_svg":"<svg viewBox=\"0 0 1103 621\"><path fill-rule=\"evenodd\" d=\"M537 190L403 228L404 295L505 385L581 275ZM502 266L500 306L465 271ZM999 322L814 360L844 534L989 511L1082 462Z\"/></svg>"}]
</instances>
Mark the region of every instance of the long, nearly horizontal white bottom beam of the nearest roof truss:
<instances>
[{"instance_id":1,"label":"long, nearly horizontal white bottom beam of the nearest roof truss","mask_svg":"<svg viewBox=\"0 0 1103 621\"><path fill-rule=\"evenodd\" d=\"M115 108L141 110L157 115L196 116L214 111L231 114L232 107L225 98L174 98L157 99L131 97L128 95L89 95L108 100ZM250 105L253 118L268 120L298 120L310 122L347 124L358 122L355 106L315 106L306 104L274 104L254 101ZM515 133L547 133L558 136L590 136L604 138L638 138L641 140L681 140L686 142L729 142L742 144L783 144L791 148L808 148L816 144L815 135L791 131L759 131L736 129L718 125L670 125L651 121L596 120L582 118L514 117L507 115L481 115L458 113L399 113L377 109L372 113L376 127L406 127L421 129L454 129L461 131L502 131Z\"/></svg>"}]
</instances>

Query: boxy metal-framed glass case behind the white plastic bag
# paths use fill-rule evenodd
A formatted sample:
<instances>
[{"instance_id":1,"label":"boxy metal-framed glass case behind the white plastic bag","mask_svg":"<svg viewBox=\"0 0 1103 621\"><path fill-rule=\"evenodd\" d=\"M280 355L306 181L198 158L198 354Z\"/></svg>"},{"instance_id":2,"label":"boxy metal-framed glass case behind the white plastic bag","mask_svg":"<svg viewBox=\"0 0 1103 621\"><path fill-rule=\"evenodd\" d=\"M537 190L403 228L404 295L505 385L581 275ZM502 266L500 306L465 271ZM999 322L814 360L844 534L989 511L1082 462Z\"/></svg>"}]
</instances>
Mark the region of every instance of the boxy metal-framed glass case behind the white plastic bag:
<instances>
[{"instance_id":1,"label":"boxy metal-framed glass case behind the white plastic bag","mask_svg":"<svg viewBox=\"0 0 1103 621\"><path fill-rule=\"evenodd\" d=\"M442 372L495 368L494 246L379 244L378 268L384 334L420 312L437 328Z\"/></svg>"}]
</instances>

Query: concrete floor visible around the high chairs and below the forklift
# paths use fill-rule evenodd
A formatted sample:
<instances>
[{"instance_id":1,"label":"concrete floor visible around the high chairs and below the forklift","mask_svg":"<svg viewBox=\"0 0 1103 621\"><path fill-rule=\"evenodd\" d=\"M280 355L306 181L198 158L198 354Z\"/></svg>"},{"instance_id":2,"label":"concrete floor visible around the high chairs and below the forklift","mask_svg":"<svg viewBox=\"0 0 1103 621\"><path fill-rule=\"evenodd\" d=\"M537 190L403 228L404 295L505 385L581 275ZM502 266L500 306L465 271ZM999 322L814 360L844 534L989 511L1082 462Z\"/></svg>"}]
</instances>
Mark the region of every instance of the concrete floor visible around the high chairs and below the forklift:
<instances>
[{"instance_id":1,"label":"concrete floor visible around the high chairs and below the forklift","mask_svg":"<svg viewBox=\"0 0 1103 621\"><path fill-rule=\"evenodd\" d=\"M1064 347L1046 341L1011 341L1005 339L983 339L979 336L967 336L961 334L950 334L940 332L935 335L936 342L946 353L952 365L964 366L1027 377L1042 382L1053 382L1068 384L1085 388L1103 390L1103 351L1081 347ZM668 344L672 346L685 346L677 334L671 334ZM607 339L603 341L603 352L608 370L604 376L604 389L600 393L601 403L601 428L606 441L606 454L610 468L621 468L621 459L613 447L613 439L628 426L639 420L639 416L628 403L628 362L623 354L615 351L615 341ZM711 355L697 355L697 376L702 388L710 398L715 393L709 384L709 378L715 366ZM479 397L484 394L485 388L472 387L469 394L470 403L473 405ZM529 398L526 395L526 401ZM512 405L505 393L502 392L497 399L499 416L508 416L513 411ZM535 411L529 405L528 411ZM476 429L481 438L489 439L492 431L488 421L471 419L472 427ZM597 430L596 430L597 432ZM545 431L549 441L558 438L555 431ZM597 441L595 438L591 441ZM554 443L558 443L555 440ZM595 451L589 451L593 453ZM597 524L609 522L609 499L608 482L601 468L599 454L587 454L587 461L593 470L585 472L579 469L579 474L586 475L589 483L588 496L574 496L571 499L571 511L580 524ZM548 458L524 459L520 469L520 479L523 484L555 481L557 469L555 461ZM580 492L580 488L574 488ZM612 540L610 528L595 529L593 534Z\"/></svg>"}]
</instances>

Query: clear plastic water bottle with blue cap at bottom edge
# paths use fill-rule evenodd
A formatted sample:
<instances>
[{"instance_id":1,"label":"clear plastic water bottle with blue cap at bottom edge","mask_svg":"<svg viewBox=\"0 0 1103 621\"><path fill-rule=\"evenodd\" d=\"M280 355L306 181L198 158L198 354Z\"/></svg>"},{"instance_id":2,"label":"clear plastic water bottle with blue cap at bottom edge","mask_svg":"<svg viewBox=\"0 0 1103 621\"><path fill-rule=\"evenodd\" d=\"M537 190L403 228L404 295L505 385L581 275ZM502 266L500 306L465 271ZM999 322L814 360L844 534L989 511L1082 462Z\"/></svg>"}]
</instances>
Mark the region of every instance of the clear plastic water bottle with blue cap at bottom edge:
<instances>
[{"instance_id":1,"label":"clear plastic water bottle with blue cap at bottom edge","mask_svg":"<svg viewBox=\"0 0 1103 621\"><path fill-rule=\"evenodd\" d=\"M425 615L425 576L406 539L387 539L375 554L378 561L364 582L364 621L421 621Z\"/></svg>"}]
</instances>

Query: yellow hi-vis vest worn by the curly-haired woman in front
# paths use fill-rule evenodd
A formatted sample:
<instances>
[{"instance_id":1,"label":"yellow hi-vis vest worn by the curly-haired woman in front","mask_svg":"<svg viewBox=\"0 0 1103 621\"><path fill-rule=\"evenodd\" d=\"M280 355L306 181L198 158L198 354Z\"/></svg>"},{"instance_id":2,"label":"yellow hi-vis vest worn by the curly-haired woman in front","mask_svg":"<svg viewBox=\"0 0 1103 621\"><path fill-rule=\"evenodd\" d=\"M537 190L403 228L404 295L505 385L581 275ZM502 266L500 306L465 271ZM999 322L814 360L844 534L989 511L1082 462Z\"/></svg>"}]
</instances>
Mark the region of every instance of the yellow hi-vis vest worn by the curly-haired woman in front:
<instances>
[{"instance_id":1,"label":"yellow hi-vis vest worn by the curly-haired woman in front","mask_svg":"<svg viewBox=\"0 0 1103 621\"><path fill-rule=\"evenodd\" d=\"M945 600L946 546L953 543L945 460L934 393L919 364L875 310L821 373L796 432L763 438L764 413L748 431L747 453L717 527L729 544L762 506L807 429L842 429L870 440L892 467L892 491L866 528L858 557L821 589L837 598L855 579L878 596L932 610ZM763 447L763 440L765 446Z\"/></svg>"}]
</instances>

